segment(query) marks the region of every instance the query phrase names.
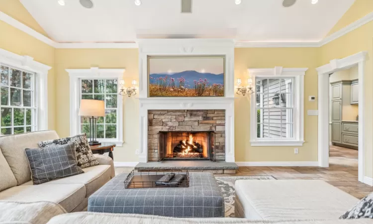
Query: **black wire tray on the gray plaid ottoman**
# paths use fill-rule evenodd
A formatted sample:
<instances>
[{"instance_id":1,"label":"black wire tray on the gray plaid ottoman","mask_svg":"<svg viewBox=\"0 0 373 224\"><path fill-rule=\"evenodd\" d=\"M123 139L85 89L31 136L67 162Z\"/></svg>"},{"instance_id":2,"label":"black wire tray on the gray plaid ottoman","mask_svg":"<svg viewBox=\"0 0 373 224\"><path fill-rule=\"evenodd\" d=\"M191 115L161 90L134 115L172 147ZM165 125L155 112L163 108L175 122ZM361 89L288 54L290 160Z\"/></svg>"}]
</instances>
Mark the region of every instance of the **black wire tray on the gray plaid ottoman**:
<instances>
[{"instance_id":1,"label":"black wire tray on the gray plaid ottoman","mask_svg":"<svg viewBox=\"0 0 373 224\"><path fill-rule=\"evenodd\" d=\"M156 185L158 181L165 174L174 173L175 175L182 175L184 179L176 186L172 185ZM187 188L189 187L189 173L181 170L172 171L149 171L141 172L139 170L132 170L124 180L125 188Z\"/></svg>"}]
</instances>

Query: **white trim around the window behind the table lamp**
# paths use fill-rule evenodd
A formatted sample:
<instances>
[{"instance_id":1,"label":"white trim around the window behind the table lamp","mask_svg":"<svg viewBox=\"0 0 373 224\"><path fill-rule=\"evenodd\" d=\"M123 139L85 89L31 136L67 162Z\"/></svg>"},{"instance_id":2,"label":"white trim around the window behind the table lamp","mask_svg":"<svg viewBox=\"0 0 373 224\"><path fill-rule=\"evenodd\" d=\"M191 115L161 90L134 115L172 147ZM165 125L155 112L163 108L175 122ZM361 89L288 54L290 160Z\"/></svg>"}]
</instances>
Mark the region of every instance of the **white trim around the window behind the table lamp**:
<instances>
[{"instance_id":1,"label":"white trim around the window behind the table lamp","mask_svg":"<svg viewBox=\"0 0 373 224\"><path fill-rule=\"evenodd\" d=\"M79 134L79 105L80 105L80 79L122 79L125 69L66 69L70 76L70 135ZM119 84L119 82L118 82ZM119 94L119 86L118 86ZM100 140L100 142L115 143L116 146L123 145L123 100L118 95L118 136L116 140Z\"/></svg>"}]
</instances>

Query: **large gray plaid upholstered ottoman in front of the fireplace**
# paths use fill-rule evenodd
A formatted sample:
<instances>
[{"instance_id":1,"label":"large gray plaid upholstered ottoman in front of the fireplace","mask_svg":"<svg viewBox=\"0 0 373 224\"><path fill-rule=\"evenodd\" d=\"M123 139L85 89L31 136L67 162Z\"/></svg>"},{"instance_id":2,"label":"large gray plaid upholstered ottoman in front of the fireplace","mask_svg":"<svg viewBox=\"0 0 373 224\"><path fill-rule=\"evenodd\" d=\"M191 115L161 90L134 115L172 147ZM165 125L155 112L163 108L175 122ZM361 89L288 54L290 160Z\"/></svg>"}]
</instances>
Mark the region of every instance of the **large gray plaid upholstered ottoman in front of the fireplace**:
<instances>
[{"instance_id":1,"label":"large gray plaid upholstered ottoman in front of the fireplace","mask_svg":"<svg viewBox=\"0 0 373 224\"><path fill-rule=\"evenodd\" d=\"M88 199L88 211L169 217L224 217L224 198L211 173L190 172L188 188L125 189L122 173Z\"/></svg>"}]
</instances>

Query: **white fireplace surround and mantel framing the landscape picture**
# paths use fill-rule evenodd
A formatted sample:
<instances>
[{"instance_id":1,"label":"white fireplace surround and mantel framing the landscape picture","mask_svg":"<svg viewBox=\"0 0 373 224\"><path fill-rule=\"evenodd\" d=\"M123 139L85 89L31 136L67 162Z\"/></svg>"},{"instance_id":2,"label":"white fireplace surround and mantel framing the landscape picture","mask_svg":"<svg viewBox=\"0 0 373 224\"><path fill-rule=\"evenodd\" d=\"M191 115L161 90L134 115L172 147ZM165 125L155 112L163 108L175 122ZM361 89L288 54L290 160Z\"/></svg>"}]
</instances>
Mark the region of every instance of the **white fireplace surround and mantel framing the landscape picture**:
<instances>
[{"instance_id":1,"label":"white fireplace surround and mantel framing the landscape picture","mask_svg":"<svg viewBox=\"0 0 373 224\"><path fill-rule=\"evenodd\" d=\"M148 97L148 56L225 56L224 97ZM225 110L225 161L234 162L234 42L231 39L139 41L140 153L148 162L148 110Z\"/></svg>"}]
</instances>

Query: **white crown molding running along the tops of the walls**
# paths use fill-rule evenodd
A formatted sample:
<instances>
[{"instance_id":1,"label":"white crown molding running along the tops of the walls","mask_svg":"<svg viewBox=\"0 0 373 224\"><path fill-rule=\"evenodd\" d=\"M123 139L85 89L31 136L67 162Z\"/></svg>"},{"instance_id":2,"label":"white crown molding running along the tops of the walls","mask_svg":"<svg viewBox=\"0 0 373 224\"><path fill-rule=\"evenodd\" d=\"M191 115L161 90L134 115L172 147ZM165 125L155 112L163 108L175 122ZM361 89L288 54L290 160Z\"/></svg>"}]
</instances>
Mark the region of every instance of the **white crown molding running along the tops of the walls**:
<instances>
[{"instance_id":1,"label":"white crown molding running along the tops of the walls","mask_svg":"<svg viewBox=\"0 0 373 224\"><path fill-rule=\"evenodd\" d=\"M35 31L34 29L26 26L25 24L19 22L18 20L10 17L9 15L5 14L4 12L0 11L0 20L4 21L5 23L29 34L30 36L35 37L36 39L54 47L54 48L72 48L72 49L86 49L86 48L96 48L96 49L103 49L103 48L115 48L115 49L125 49L125 48L138 48L138 42L142 40L138 40L135 42L123 42L123 43L63 43L63 42L56 42L43 34ZM250 42L250 41L234 41L234 47L236 48L276 48L276 47L321 47L365 24L368 22L373 21L373 12L367 14L366 16L356 20L355 22L351 23L350 25L330 34L329 36L325 37L321 41L314 41L314 42ZM148 39L149 40L149 39ZM200 40L200 39L199 39ZM206 41L218 41L219 39L205 39ZM170 40L169 40L170 41Z\"/></svg>"}]
</instances>

